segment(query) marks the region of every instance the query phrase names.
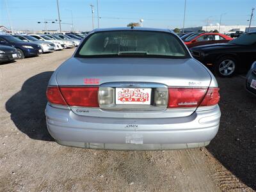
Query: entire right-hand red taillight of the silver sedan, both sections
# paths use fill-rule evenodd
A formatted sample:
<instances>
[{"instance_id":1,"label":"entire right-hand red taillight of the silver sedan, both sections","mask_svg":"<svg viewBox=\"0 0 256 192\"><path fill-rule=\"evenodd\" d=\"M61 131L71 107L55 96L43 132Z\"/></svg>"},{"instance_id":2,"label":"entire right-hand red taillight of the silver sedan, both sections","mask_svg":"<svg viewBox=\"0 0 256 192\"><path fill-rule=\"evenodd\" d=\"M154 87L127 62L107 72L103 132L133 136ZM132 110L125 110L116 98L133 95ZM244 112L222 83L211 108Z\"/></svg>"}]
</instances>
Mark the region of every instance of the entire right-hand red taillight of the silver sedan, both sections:
<instances>
[{"instance_id":1,"label":"entire right-hand red taillight of the silver sedan, both sections","mask_svg":"<svg viewBox=\"0 0 256 192\"><path fill-rule=\"evenodd\" d=\"M212 106L220 100L219 88L168 88L168 108Z\"/></svg>"}]
</instances>

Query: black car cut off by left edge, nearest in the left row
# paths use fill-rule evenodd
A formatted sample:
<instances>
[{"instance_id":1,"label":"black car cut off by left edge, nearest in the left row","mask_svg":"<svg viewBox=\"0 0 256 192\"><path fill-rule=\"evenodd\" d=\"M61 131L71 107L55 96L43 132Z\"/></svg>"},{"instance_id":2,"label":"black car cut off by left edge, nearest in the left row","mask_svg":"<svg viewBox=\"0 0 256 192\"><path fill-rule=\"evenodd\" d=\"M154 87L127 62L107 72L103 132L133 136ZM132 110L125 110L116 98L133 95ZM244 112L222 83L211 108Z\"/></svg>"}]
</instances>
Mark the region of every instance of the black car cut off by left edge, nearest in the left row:
<instances>
[{"instance_id":1,"label":"black car cut off by left edge, nearest in the left row","mask_svg":"<svg viewBox=\"0 0 256 192\"><path fill-rule=\"evenodd\" d=\"M18 53L13 47L0 45L0 63L17 60Z\"/></svg>"}]
</instances>

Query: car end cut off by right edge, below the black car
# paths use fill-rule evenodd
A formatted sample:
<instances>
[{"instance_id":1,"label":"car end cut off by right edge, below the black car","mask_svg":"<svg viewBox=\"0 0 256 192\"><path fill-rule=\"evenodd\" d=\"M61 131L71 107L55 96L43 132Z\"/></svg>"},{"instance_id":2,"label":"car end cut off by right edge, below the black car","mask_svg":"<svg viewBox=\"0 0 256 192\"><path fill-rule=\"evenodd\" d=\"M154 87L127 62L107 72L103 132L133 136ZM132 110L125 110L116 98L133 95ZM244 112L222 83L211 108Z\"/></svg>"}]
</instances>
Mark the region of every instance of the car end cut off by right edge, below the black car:
<instances>
[{"instance_id":1,"label":"car end cut off by right edge, below the black car","mask_svg":"<svg viewBox=\"0 0 256 192\"><path fill-rule=\"evenodd\" d=\"M248 92L256 95L256 61L252 64L246 76L245 87Z\"/></svg>"}]
</instances>

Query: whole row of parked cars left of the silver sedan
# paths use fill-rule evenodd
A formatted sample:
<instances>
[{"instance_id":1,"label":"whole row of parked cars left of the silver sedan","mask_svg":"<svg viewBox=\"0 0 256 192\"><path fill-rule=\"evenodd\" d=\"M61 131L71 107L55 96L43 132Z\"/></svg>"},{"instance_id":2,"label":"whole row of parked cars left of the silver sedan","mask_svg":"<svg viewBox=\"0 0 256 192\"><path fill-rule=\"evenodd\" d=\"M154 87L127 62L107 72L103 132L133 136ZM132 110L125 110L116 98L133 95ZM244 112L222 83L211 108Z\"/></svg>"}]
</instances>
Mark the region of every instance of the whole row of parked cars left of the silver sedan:
<instances>
[{"instance_id":1,"label":"whole row of parked cars left of the silver sedan","mask_svg":"<svg viewBox=\"0 0 256 192\"><path fill-rule=\"evenodd\" d=\"M83 38L74 34L0 35L0 63L77 47Z\"/></svg>"}]
</instances>

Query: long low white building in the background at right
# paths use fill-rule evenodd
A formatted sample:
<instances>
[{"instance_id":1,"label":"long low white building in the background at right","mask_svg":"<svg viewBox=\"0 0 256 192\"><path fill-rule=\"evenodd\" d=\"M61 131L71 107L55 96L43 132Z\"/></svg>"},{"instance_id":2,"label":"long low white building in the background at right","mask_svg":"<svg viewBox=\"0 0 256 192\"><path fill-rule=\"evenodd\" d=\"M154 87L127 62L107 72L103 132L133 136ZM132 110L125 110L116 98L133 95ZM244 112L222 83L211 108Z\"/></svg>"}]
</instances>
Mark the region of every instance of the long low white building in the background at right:
<instances>
[{"instance_id":1,"label":"long low white building in the background at right","mask_svg":"<svg viewBox=\"0 0 256 192\"><path fill-rule=\"evenodd\" d=\"M197 32L197 31L214 31L217 30L219 31L220 29L220 33L228 33L228 31L230 31L232 33L236 32L236 31L248 31L248 26L220 26L220 25L216 25L216 26L198 26L198 27L194 27L194 28L184 28L184 32ZM181 31L183 31L183 29L181 29ZM256 26L252 26L250 31L256 31Z\"/></svg>"}]
</instances>

